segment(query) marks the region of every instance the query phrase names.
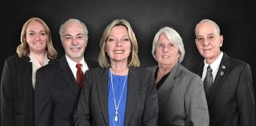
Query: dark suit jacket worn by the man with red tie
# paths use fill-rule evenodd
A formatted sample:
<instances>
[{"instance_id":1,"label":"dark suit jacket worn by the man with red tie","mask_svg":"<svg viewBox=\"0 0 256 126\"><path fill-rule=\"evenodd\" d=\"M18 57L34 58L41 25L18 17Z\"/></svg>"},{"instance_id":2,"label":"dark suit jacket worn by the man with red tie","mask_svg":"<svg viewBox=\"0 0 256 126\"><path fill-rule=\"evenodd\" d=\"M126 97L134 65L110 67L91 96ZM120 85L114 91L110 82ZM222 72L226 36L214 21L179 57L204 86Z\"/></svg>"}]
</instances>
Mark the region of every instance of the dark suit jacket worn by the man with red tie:
<instances>
[{"instance_id":1,"label":"dark suit jacket worn by the man with red tie","mask_svg":"<svg viewBox=\"0 0 256 126\"><path fill-rule=\"evenodd\" d=\"M86 60L91 69L97 63ZM36 72L36 126L73 126L73 111L77 107L80 88L62 56Z\"/></svg>"}]
</instances>

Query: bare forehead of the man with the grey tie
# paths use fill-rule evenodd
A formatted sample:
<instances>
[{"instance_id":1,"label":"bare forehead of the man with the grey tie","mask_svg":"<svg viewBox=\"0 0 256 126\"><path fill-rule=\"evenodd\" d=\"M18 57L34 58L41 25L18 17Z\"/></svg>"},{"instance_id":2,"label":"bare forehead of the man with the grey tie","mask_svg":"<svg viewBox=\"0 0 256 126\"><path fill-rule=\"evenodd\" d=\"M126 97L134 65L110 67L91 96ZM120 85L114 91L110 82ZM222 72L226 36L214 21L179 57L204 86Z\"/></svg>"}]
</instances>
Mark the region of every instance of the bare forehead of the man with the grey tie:
<instances>
[{"instance_id":1,"label":"bare forehead of the man with the grey tie","mask_svg":"<svg viewBox=\"0 0 256 126\"><path fill-rule=\"evenodd\" d=\"M196 35L212 35L217 34L217 30L214 24L210 22L201 22L195 28Z\"/></svg>"}]
</instances>

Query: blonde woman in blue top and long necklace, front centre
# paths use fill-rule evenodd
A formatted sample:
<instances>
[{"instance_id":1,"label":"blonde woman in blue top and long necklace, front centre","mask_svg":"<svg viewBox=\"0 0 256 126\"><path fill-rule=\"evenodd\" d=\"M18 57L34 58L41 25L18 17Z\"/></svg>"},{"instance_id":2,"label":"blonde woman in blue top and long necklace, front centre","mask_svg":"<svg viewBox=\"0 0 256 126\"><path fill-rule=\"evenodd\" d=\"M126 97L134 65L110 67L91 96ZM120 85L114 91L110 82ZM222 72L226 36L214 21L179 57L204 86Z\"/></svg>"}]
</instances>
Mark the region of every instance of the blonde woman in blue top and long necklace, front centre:
<instances>
[{"instance_id":1,"label":"blonde woman in blue top and long necklace, front centre","mask_svg":"<svg viewBox=\"0 0 256 126\"><path fill-rule=\"evenodd\" d=\"M156 126L152 72L138 69L137 39L126 20L113 20L100 39L100 68L85 72L76 126Z\"/></svg>"}]
</instances>

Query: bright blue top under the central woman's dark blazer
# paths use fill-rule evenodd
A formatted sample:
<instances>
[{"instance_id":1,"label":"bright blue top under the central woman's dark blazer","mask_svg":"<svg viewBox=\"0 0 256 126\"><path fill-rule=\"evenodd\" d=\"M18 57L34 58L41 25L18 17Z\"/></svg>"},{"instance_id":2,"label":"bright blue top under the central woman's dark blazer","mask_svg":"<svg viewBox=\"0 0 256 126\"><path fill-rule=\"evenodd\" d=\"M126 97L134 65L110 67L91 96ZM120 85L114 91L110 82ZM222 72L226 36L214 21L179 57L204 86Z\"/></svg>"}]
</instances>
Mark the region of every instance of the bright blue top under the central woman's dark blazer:
<instances>
[{"instance_id":1,"label":"bright blue top under the central woman's dark blazer","mask_svg":"<svg viewBox=\"0 0 256 126\"><path fill-rule=\"evenodd\" d=\"M114 102L114 95L113 95L112 83L111 83L111 72L108 69L108 123L109 123L109 126L123 126L125 113L126 113L126 95L127 95L128 75L115 76L112 74L112 80L113 80L113 87L114 87L114 93L115 93L115 102ZM124 83L125 80L126 82ZM123 84L125 85L122 92ZM122 98L119 103L121 94L122 94ZM118 109L119 120L115 121L115 105L116 107L118 107L118 104L119 104L119 109Z\"/></svg>"}]
</instances>

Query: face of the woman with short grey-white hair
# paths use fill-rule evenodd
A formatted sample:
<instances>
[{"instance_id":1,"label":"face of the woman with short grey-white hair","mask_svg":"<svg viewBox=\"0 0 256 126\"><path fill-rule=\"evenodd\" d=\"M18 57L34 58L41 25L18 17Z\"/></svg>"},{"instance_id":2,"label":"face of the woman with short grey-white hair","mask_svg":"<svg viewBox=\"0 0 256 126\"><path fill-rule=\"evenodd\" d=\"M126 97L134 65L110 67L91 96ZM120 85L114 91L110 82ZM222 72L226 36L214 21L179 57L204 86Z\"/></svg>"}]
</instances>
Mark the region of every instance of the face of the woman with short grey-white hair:
<instances>
[{"instance_id":1,"label":"face of the woman with short grey-white hair","mask_svg":"<svg viewBox=\"0 0 256 126\"><path fill-rule=\"evenodd\" d=\"M179 56L177 44L171 42L165 33L161 34L156 44L158 65L173 67L178 62Z\"/></svg>"}]
</instances>

